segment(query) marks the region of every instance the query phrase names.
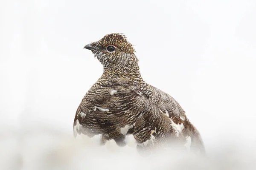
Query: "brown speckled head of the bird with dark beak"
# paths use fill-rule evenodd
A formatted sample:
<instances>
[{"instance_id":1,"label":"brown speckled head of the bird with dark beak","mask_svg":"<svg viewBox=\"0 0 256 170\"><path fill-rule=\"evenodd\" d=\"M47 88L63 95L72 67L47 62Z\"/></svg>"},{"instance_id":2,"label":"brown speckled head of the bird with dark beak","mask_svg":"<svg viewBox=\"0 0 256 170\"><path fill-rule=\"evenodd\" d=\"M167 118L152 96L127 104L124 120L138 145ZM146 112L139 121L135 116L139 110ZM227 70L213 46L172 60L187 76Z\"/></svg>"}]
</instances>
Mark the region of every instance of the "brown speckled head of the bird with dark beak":
<instances>
[{"instance_id":1,"label":"brown speckled head of the bird with dark beak","mask_svg":"<svg viewBox=\"0 0 256 170\"><path fill-rule=\"evenodd\" d=\"M132 67L137 65L133 45L127 41L124 34L107 34L101 40L84 46L91 50L104 68Z\"/></svg>"}]
</instances>

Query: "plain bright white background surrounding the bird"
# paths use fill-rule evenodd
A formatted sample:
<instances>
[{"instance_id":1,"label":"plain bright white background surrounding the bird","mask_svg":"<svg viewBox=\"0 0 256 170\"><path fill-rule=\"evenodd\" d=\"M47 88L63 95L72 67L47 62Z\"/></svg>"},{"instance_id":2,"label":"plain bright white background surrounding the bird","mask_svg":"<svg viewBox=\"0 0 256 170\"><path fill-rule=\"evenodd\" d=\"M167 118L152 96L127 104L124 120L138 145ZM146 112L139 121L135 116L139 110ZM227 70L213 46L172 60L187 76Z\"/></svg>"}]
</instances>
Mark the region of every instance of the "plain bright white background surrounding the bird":
<instances>
[{"instance_id":1,"label":"plain bright white background surrounding the bird","mask_svg":"<svg viewBox=\"0 0 256 170\"><path fill-rule=\"evenodd\" d=\"M38 143L72 138L76 108L103 71L83 47L113 32L135 45L144 80L180 103L210 161L231 147L227 157L244 166L256 142L255 9L254 0L1 1L4 166L20 155L23 169L38 169Z\"/></svg>"}]
</instances>

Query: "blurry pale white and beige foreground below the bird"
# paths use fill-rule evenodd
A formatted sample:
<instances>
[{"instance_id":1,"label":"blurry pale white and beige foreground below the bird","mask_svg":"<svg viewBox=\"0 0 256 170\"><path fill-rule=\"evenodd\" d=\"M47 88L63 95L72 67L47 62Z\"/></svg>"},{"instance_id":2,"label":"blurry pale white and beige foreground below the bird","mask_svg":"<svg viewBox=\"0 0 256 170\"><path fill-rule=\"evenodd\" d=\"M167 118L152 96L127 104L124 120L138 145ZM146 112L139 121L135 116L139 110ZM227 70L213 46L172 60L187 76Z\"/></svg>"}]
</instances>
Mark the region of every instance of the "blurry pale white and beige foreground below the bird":
<instances>
[{"instance_id":1,"label":"blurry pale white and beige foreground below the bird","mask_svg":"<svg viewBox=\"0 0 256 170\"><path fill-rule=\"evenodd\" d=\"M86 170L86 169L173 169L249 170L255 169L253 141L238 144L238 136L223 145L212 145L207 157L165 151L148 157L137 153L133 144L117 147L113 141L98 146L94 139L75 140L52 127L27 126L0 132L1 170ZM235 140L236 142L235 142ZM233 140L233 142L232 142ZM236 143L236 144L234 144Z\"/></svg>"}]
</instances>

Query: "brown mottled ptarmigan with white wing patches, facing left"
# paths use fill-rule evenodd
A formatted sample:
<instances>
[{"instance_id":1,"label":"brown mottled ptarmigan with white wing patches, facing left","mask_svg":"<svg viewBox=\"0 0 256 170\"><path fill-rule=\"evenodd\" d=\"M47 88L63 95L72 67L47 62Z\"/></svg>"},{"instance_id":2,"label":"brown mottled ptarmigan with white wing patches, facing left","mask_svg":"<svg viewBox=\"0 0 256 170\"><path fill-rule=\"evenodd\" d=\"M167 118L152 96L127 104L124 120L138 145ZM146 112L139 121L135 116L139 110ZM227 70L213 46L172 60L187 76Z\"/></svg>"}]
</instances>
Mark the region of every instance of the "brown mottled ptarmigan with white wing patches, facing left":
<instances>
[{"instance_id":1,"label":"brown mottled ptarmigan with white wing patches, facing left","mask_svg":"<svg viewBox=\"0 0 256 170\"><path fill-rule=\"evenodd\" d=\"M146 83L140 74L134 45L124 34L112 33L84 46L102 64L102 76L87 91L76 110L76 137L100 136L123 147L132 136L137 150L177 143L205 153L199 131L169 94Z\"/></svg>"}]
</instances>

